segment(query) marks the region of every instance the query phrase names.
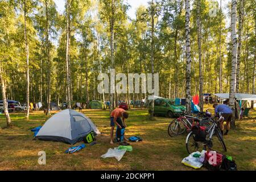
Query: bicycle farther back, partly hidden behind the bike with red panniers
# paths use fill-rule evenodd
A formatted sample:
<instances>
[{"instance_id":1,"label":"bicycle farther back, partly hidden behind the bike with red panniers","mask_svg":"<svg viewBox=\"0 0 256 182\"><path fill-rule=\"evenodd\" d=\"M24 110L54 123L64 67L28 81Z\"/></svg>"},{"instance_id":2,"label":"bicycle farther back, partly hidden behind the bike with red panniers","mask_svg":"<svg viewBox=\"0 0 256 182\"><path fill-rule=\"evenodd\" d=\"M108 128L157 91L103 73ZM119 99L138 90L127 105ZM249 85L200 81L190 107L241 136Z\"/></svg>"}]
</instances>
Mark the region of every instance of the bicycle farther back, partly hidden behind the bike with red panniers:
<instances>
[{"instance_id":1,"label":"bicycle farther back, partly hidden behind the bike with red panniers","mask_svg":"<svg viewBox=\"0 0 256 182\"><path fill-rule=\"evenodd\" d=\"M207 112L205 112L207 113ZM191 131L192 126L195 123L200 123L201 126L210 127L209 117L205 115L204 112L199 113L199 116L203 115L203 118L193 117L191 115L186 115L186 112L183 111L178 118L174 119L170 125L168 126L168 134L170 137L175 137L177 135L181 135L187 130Z\"/></svg>"}]
</instances>

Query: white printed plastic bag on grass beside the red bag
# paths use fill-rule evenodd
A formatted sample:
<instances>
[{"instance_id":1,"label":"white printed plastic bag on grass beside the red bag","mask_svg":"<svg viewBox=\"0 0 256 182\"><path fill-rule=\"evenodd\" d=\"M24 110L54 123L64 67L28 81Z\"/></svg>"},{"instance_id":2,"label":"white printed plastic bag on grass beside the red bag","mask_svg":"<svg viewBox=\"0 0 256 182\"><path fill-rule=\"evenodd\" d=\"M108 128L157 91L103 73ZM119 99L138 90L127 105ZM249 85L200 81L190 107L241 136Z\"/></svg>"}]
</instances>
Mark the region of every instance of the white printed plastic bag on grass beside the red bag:
<instances>
[{"instance_id":1,"label":"white printed plastic bag on grass beside the red bag","mask_svg":"<svg viewBox=\"0 0 256 182\"><path fill-rule=\"evenodd\" d=\"M203 166L205 150L199 152L193 152L189 154L186 158L184 158L181 163L185 164L185 166L189 166L195 169L199 169ZM199 156L200 155L200 156Z\"/></svg>"}]
</instances>

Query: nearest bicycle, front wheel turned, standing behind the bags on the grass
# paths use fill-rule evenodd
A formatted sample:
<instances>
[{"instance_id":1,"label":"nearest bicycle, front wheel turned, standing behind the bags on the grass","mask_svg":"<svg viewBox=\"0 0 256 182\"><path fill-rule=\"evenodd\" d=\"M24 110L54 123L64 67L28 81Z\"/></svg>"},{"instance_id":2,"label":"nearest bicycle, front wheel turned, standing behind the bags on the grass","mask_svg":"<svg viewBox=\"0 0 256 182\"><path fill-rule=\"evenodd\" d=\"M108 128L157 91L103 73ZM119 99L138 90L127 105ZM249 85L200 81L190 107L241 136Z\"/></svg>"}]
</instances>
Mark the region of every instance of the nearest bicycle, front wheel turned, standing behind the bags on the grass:
<instances>
[{"instance_id":1,"label":"nearest bicycle, front wheel turned, standing behind the bags on the grass","mask_svg":"<svg viewBox=\"0 0 256 182\"><path fill-rule=\"evenodd\" d=\"M224 120L224 117L222 117L221 113L219 115L218 120L210 119L210 121L212 121L213 124L207 130L207 137L204 142L197 142L195 140L196 134L193 134L192 131L189 132L189 134L187 135L186 141L185 141L188 153L191 154L192 152L201 151L200 148L202 146L203 146L203 148L201 148L202 150L206 150L206 147L208 147L210 150L212 150L214 135L217 136L224 151L227 151L223 136L221 134L220 126L218 125L218 122L223 121L223 120Z\"/></svg>"}]
</instances>

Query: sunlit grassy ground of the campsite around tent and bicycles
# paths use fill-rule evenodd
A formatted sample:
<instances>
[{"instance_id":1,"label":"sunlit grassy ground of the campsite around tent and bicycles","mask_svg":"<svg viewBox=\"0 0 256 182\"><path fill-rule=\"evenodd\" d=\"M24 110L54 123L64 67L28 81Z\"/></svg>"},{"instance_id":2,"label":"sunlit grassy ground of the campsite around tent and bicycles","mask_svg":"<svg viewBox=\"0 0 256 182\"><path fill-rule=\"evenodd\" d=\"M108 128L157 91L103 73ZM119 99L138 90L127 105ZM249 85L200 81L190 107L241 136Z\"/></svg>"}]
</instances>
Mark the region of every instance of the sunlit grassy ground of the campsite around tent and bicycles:
<instances>
[{"instance_id":1,"label":"sunlit grassy ground of the campsite around tent and bicycles","mask_svg":"<svg viewBox=\"0 0 256 182\"><path fill-rule=\"evenodd\" d=\"M6 126L4 115L0 115L0 170L191 170L181 164L187 156L185 148L186 134L169 137L167 127L172 120L165 117L148 118L147 110L130 110L126 135L138 135L143 142L131 143L132 152L126 152L118 162L115 158L101 158L109 144L109 111L83 110L83 113L96 123L101 135L97 144L86 146L75 154L64 154L70 147L59 142L32 140L30 129L42 125L46 116L42 111L31 113L30 119L24 114L11 114L14 127ZM250 117L237 121L238 128L230 130L225 136L228 152L236 160L239 170L256 169L256 111L250 111ZM46 165L38 164L38 152L46 152ZM204 168L203 168L204 169Z\"/></svg>"}]
</instances>

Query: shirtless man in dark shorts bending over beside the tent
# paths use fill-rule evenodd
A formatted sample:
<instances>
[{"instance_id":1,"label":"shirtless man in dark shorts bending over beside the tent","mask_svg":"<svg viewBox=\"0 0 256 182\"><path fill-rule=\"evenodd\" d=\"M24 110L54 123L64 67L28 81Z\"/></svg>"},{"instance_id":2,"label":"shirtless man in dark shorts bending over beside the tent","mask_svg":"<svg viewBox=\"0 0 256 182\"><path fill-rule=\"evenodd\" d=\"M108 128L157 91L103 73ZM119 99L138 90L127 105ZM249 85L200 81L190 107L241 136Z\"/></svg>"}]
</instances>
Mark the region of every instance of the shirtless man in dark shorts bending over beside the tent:
<instances>
[{"instance_id":1,"label":"shirtless man in dark shorts bending over beside the tent","mask_svg":"<svg viewBox=\"0 0 256 182\"><path fill-rule=\"evenodd\" d=\"M123 129L126 127L125 119L127 119L129 114L122 108L116 108L112 111L110 114L110 144L113 144L113 132L114 132L114 127L117 125L120 129ZM122 119L121 119L122 117ZM125 140L127 140L124 137Z\"/></svg>"}]
</instances>

